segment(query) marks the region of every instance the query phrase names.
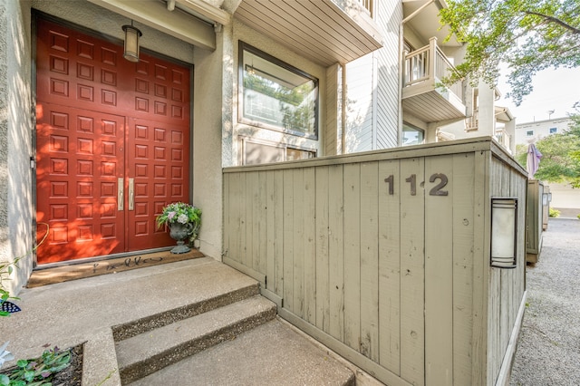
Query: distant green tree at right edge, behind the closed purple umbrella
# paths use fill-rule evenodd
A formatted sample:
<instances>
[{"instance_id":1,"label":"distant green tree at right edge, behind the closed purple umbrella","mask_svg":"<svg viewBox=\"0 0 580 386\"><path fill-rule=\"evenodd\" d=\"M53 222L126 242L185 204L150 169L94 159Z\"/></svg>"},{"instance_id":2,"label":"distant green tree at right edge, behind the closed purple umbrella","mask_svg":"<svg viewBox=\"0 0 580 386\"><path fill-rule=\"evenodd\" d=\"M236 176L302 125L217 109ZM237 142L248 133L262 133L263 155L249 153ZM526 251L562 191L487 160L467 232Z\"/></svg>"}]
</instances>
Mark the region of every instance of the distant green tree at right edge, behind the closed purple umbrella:
<instances>
[{"instance_id":1,"label":"distant green tree at right edge, behind the closed purple umbrella","mask_svg":"<svg viewBox=\"0 0 580 386\"><path fill-rule=\"evenodd\" d=\"M542 153L535 179L548 182L569 182L580 188L580 114L572 115L570 129L553 134L536 142ZM521 165L527 163L527 146L518 145L516 159Z\"/></svg>"}]
</instances>

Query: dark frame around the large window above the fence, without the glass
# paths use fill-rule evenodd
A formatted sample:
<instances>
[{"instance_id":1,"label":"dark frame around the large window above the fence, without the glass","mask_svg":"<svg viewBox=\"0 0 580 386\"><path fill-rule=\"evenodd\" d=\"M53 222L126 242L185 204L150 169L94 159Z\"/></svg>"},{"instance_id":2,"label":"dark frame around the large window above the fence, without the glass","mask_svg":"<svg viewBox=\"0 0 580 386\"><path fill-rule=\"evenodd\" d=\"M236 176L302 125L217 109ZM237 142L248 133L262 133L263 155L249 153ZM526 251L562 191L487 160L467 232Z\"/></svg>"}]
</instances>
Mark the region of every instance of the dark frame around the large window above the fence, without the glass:
<instances>
[{"instance_id":1,"label":"dark frame around the large window above the fence, without the glass","mask_svg":"<svg viewBox=\"0 0 580 386\"><path fill-rule=\"evenodd\" d=\"M305 78L308 81L312 81L314 82L314 130L313 132L305 132L305 131L301 131L301 130L292 130L292 129L286 129L283 126L278 126L275 124L269 124L269 123L265 123L263 121L256 121L256 120L252 120L251 118L245 117L244 116L244 53L252 53L256 56L259 56L261 59L264 59L265 61L269 62L269 63L273 63L281 68L283 68L284 70L288 71L288 72L293 72L298 76L301 76L303 78ZM237 58L237 121L239 123L244 123L247 124L249 126L253 126L253 127L257 127L257 128L261 128L261 129L267 129L267 130L275 130L275 131L279 131L279 132L284 132L287 134L291 134L297 137L302 137L302 138L307 138L310 140L318 140L318 133L319 133L319 119L318 119L318 115L319 115L319 103L320 103L320 82L318 81L318 78L314 77L313 75L310 75L307 72L304 72L298 68L296 68L295 66L285 63L284 61L275 58L274 56L265 53L259 49L257 49L256 47L245 43L243 41L239 41L238 43L238 58Z\"/></svg>"}]
</instances>

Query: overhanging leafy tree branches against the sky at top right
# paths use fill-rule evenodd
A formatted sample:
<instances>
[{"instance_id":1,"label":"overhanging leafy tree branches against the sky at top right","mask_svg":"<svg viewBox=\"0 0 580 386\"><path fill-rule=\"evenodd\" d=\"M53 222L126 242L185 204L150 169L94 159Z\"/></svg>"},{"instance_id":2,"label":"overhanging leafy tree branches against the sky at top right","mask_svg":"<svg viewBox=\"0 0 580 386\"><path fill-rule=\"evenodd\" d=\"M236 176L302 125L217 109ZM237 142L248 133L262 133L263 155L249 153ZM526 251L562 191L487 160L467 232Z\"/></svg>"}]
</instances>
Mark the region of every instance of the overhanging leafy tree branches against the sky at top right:
<instances>
[{"instance_id":1,"label":"overhanging leafy tree branches against the sky at top right","mask_svg":"<svg viewBox=\"0 0 580 386\"><path fill-rule=\"evenodd\" d=\"M498 83L507 63L507 93L517 105L533 90L531 79L546 68L580 65L578 0L448 0L441 23L467 43L463 63L443 82Z\"/></svg>"}]
</instances>

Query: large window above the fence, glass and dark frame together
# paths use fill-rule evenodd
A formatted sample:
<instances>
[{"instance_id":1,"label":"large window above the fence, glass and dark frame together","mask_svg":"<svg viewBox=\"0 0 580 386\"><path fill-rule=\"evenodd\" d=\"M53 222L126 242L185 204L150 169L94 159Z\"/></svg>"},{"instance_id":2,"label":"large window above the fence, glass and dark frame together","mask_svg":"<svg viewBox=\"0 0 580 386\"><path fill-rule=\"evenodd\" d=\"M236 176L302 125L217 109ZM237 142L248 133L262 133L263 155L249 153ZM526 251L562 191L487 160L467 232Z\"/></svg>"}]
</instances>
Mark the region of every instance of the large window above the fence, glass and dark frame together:
<instances>
[{"instance_id":1,"label":"large window above the fence, glass and dark frame together","mask_svg":"<svg viewBox=\"0 0 580 386\"><path fill-rule=\"evenodd\" d=\"M239 121L316 140L318 80L246 43L239 53Z\"/></svg>"}]
</instances>

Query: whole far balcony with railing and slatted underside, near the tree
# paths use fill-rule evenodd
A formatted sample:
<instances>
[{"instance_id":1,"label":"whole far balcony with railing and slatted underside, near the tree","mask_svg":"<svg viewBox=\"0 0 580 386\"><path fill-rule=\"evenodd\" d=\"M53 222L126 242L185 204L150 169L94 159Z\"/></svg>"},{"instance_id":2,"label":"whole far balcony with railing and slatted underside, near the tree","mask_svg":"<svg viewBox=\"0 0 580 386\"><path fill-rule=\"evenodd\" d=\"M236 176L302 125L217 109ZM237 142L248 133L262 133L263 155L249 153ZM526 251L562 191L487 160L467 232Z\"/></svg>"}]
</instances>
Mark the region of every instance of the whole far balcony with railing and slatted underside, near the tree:
<instances>
[{"instance_id":1,"label":"whole far balcony with railing and slatted underside, near the tree","mask_svg":"<svg viewBox=\"0 0 580 386\"><path fill-rule=\"evenodd\" d=\"M466 117L463 84L449 87L440 80L454 71L453 64L437 46L437 38L429 45L405 55L402 108L421 121L453 121Z\"/></svg>"}]
</instances>

